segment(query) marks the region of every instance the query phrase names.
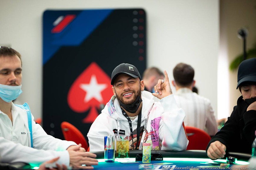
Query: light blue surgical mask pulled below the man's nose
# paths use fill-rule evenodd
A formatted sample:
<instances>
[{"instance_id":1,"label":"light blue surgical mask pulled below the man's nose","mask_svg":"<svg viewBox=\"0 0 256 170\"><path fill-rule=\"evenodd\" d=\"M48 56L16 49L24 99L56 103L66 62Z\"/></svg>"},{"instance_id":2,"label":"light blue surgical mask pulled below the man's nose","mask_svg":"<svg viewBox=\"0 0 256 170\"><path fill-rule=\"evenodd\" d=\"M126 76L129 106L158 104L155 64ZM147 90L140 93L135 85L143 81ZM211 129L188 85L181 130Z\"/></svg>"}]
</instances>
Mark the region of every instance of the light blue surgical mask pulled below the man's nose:
<instances>
[{"instance_id":1,"label":"light blue surgical mask pulled below the man's nose","mask_svg":"<svg viewBox=\"0 0 256 170\"><path fill-rule=\"evenodd\" d=\"M8 86L0 84L0 97L7 103L10 103L22 93L20 86Z\"/></svg>"}]
</instances>

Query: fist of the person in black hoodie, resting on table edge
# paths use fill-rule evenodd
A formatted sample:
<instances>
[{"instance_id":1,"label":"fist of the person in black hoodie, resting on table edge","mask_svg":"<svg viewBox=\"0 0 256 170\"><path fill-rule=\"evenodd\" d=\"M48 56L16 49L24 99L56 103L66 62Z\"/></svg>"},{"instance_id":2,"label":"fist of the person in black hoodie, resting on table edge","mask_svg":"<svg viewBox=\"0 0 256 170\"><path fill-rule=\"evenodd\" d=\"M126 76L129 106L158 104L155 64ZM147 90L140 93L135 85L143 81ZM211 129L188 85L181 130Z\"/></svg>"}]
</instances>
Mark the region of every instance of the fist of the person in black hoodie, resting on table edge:
<instances>
[{"instance_id":1,"label":"fist of the person in black hoodie, resting on table edge","mask_svg":"<svg viewBox=\"0 0 256 170\"><path fill-rule=\"evenodd\" d=\"M223 158L226 154L226 146L220 141L215 141L210 144L207 150L207 156L212 160Z\"/></svg>"}]
</instances>

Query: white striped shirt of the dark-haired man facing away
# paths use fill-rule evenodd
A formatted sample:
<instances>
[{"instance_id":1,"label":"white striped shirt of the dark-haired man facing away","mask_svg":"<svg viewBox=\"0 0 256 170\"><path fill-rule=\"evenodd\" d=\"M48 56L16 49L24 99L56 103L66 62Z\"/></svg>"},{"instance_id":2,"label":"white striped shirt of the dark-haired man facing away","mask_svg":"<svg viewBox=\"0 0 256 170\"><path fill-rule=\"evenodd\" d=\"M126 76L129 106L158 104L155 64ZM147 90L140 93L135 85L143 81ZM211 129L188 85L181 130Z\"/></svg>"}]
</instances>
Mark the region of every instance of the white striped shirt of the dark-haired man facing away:
<instances>
[{"instance_id":1,"label":"white striped shirt of the dark-haired man facing away","mask_svg":"<svg viewBox=\"0 0 256 170\"><path fill-rule=\"evenodd\" d=\"M174 94L178 107L185 111L185 126L205 130L210 136L217 133L217 121L209 99L188 88L180 88Z\"/></svg>"}]
</instances>

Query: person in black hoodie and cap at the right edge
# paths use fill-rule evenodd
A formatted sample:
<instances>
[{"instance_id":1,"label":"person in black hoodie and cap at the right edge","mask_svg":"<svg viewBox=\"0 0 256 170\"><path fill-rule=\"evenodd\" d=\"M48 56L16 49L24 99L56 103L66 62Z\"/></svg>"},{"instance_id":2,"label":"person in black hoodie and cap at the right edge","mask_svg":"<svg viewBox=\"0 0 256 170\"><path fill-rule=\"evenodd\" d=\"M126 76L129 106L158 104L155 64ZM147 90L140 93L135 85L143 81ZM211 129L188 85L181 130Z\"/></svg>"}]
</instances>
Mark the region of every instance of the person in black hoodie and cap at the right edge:
<instances>
[{"instance_id":1,"label":"person in black hoodie and cap at the right edge","mask_svg":"<svg viewBox=\"0 0 256 170\"><path fill-rule=\"evenodd\" d=\"M242 93L237 106L207 146L211 159L223 158L228 152L252 153L256 130L256 58L239 65L237 88Z\"/></svg>"}]
</instances>

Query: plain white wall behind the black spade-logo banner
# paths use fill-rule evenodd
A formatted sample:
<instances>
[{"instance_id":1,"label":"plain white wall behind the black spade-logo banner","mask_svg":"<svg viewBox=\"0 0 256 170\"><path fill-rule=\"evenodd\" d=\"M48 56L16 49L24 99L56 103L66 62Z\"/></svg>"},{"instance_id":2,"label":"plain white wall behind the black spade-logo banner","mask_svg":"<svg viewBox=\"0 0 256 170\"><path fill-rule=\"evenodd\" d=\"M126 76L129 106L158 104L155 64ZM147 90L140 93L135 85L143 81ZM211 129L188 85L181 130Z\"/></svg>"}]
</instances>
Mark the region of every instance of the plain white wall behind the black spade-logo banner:
<instances>
[{"instance_id":1,"label":"plain white wall behind the black spade-logo banner","mask_svg":"<svg viewBox=\"0 0 256 170\"><path fill-rule=\"evenodd\" d=\"M219 1L1 0L0 44L11 44L23 57L23 93L18 101L29 103L35 118L42 113L43 12L106 8L143 8L147 15L147 66L167 70L172 80L177 63L191 64L200 95L209 98L217 112Z\"/></svg>"}]
</instances>

